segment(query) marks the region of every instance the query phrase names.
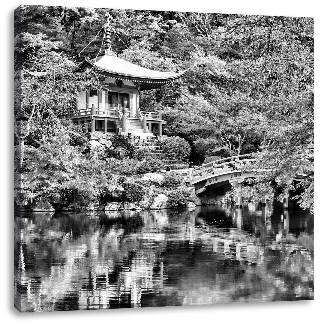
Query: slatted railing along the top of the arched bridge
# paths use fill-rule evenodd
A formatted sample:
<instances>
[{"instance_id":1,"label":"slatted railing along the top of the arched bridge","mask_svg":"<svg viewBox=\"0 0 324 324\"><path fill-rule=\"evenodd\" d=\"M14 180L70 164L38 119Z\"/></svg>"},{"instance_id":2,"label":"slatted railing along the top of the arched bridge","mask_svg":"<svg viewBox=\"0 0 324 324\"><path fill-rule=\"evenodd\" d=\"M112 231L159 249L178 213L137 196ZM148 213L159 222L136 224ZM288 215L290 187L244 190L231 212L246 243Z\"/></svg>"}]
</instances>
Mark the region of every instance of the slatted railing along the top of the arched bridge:
<instances>
[{"instance_id":1,"label":"slatted railing along the top of the arched bridge","mask_svg":"<svg viewBox=\"0 0 324 324\"><path fill-rule=\"evenodd\" d=\"M225 171L240 169L243 165L251 164L256 161L254 158L240 159L250 157L251 154L242 154L237 156L225 157L194 168L191 173L191 182L203 179L210 173L217 174Z\"/></svg>"}]
</instances>

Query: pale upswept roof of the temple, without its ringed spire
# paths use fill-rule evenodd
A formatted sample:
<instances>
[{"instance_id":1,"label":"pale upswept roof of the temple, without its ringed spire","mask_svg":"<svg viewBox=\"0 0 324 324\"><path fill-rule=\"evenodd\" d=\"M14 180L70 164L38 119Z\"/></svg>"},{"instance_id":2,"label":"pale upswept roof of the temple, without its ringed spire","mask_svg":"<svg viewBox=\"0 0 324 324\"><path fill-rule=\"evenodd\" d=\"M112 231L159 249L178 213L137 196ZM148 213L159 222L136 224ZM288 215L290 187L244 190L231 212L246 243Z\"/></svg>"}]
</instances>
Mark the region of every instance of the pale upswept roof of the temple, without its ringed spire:
<instances>
[{"instance_id":1,"label":"pale upswept roof of the temple, without its ringed spire","mask_svg":"<svg viewBox=\"0 0 324 324\"><path fill-rule=\"evenodd\" d=\"M78 69L84 70L87 67L92 67L105 76L141 82L142 90L162 87L168 83L172 83L175 79L178 79L187 72L187 70L180 72L154 71L122 60L116 55L107 54L98 56L92 60L85 58L85 61Z\"/></svg>"}]
</instances>

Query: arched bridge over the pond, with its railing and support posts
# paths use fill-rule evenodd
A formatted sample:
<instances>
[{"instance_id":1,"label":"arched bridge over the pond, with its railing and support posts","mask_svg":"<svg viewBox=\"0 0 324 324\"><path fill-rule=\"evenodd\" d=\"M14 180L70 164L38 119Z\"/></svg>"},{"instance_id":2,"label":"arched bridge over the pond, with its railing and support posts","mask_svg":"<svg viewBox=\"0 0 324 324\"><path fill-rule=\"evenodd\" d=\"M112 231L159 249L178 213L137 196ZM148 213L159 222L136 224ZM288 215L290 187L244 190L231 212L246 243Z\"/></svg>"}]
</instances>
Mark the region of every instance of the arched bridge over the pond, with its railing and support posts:
<instances>
[{"instance_id":1,"label":"arched bridge over the pond, with its railing and support posts","mask_svg":"<svg viewBox=\"0 0 324 324\"><path fill-rule=\"evenodd\" d=\"M251 165L256 162L256 159L249 158L250 154L243 154L238 156L230 156L219 159L200 167L193 168L192 163L189 166L189 182L195 186L196 195L201 195L206 189L214 189L224 184L230 183L237 191L241 190L241 183L244 179L255 178L258 171L265 171L264 169L245 168L243 166ZM308 170L309 171L309 170ZM295 172L293 181L302 181L306 174ZM243 198L238 197L236 206L242 207ZM266 203L266 198L261 203ZM289 207L289 196L284 199L284 207Z\"/></svg>"}]
</instances>

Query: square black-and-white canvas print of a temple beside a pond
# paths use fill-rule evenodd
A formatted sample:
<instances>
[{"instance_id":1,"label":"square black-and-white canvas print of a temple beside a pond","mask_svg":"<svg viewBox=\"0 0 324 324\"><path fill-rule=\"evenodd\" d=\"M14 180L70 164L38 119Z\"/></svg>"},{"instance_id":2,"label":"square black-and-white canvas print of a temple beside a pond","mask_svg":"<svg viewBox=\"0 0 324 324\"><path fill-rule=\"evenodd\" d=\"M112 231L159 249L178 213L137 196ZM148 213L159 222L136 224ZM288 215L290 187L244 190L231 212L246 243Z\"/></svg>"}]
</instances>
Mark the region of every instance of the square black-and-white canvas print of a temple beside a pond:
<instances>
[{"instance_id":1,"label":"square black-and-white canvas print of a temple beside a pond","mask_svg":"<svg viewBox=\"0 0 324 324\"><path fill-rule=\"evenodd\" d=\"M14 16L19 311L313 299L313 18Z\"/></svg>"}]
</instances>

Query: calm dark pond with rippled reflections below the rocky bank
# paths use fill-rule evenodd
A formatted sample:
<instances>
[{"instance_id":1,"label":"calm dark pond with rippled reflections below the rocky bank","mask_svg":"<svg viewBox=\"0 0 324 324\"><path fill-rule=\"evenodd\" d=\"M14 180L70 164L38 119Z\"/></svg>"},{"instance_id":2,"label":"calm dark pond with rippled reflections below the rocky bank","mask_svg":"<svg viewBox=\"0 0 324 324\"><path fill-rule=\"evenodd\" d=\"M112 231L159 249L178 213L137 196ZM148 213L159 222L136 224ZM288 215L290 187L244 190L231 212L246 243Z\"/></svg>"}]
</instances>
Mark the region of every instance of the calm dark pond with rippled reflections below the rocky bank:
<instances>
[{"instance_id":1,"label":"calm dark pond with rippled reflections below the rocky bank","mask_svg":"<svg viewBox=\"0 0 324 324\"><path fill-rule=\"evenodd\" d=\"M35 213L15 225L21 311L313 299L313 216L294 206Z\"/></svg>"}]
</instances>

